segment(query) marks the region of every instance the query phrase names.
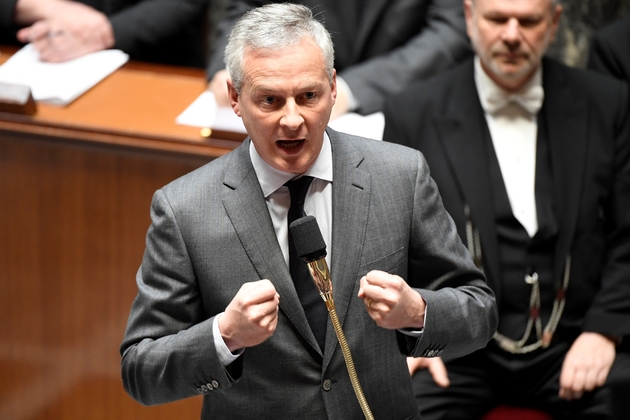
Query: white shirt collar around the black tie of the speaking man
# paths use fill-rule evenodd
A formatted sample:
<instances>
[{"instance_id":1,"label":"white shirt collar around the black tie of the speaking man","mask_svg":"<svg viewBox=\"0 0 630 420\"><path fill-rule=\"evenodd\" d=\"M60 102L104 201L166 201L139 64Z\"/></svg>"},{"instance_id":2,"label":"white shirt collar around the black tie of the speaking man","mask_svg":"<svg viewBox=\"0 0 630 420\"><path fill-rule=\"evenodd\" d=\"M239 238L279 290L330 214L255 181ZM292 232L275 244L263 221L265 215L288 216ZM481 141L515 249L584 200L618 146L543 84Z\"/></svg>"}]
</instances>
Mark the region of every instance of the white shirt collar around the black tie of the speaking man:
<instances>
[{"instance_id":1,"label":"white shirt collar around the black tie of the speaking man","mask_svg":"<svg viewBox=\"0 0 630 420\"><path fill-rule=\"evenodd\" d=\"M252 160L254 171L256 172L265 198L282 187L287 181L295 178L295 174L279 171L265 162L263 158L260 157L260 154L258 154L256 146L254 146L254 142L251 140L249 141L249 157ZM322 149L319 152L319 156L304 175L332 182L332 147L328 133L324 132L324 141L322 142Z\"/></svg>"}]
</instances>

